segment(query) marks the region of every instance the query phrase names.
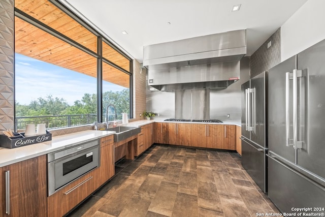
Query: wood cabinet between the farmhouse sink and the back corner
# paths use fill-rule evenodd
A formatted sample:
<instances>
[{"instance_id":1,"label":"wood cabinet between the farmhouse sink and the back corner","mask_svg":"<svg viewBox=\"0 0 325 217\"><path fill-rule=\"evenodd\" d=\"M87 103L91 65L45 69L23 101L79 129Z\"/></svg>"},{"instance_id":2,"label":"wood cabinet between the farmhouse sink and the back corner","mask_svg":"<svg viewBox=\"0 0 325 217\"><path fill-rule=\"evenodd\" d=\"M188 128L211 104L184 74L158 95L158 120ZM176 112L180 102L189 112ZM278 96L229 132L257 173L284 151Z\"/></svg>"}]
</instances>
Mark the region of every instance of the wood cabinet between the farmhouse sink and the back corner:
<instances>
[{"instance_id":1,"label":"wood cabinet between the farmhouse sink and the back corner","mask_svg":"<svg viewBox=\"0 0 325 217\"><path fill-rule=\"evenodd\" d=\"M141 127L141 132L138 134L138 142L135 146L135 156L139 156L154 143L154 125L149 123Z\"/></svg>"}]
</instances>

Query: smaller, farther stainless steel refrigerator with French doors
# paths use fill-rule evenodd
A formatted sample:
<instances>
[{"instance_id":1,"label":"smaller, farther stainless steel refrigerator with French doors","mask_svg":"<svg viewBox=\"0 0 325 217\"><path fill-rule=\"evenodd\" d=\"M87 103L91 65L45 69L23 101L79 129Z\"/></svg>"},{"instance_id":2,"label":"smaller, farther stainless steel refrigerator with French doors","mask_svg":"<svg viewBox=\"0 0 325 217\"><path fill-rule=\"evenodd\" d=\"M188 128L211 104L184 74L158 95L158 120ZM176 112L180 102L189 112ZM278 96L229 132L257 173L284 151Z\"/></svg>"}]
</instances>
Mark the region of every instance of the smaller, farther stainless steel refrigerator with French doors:
<instances>
[{"instance_id":1,"label":"smaller, farther stainless steel refrigerator with French doors","mask_svg":"<svg viewBox=\"0 0 325 217\"><path fill-rule=\"evenodd\" d=\"M267 192L267 72L242 84L242 165Z\"/></svg>"}]
</instances>

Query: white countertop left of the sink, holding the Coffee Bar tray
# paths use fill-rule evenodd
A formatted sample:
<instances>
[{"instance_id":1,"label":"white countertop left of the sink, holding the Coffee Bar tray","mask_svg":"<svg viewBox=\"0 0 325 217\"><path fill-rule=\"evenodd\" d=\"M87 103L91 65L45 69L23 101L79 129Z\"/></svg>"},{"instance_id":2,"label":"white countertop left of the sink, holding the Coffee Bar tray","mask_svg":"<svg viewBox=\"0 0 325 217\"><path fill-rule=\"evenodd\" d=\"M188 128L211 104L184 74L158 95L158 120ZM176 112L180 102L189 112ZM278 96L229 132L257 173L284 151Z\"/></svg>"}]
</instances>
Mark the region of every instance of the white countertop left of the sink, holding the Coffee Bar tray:
<instances>
[{"instance_id":1,"label":"white countertop left of the sink, holding the Coffee Bar tray","mask_svg":"<svg viewBox=\"0 0 325 217\"><path fill-rule=\"evenodd\" d=\"M87 130L62 136L54 136L51 141L26 145L18 148L10 149L0 147L0 167L112 134L114 134L114 132Z\"/></svg>"}]
</instances>

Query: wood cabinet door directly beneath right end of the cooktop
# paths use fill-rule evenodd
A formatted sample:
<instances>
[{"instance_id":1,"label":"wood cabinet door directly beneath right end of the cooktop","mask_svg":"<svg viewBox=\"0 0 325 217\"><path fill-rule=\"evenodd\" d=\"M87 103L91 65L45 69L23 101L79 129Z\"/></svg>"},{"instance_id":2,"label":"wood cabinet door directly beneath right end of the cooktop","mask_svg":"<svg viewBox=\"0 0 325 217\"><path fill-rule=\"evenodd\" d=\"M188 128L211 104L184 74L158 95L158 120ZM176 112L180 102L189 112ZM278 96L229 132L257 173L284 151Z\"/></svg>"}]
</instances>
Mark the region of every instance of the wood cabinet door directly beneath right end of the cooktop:
<instances>
[{"instance_id":1,"label":"wood cabinet door directly beneath right end of the cooktop","mask_svg":"<svg viewBox=\"0 0 325 217\"><path fill-rule=\"evenodd\" d=\"M206 125L207 148L223 149L223 125Z\"/></svg>"}]
</instances>

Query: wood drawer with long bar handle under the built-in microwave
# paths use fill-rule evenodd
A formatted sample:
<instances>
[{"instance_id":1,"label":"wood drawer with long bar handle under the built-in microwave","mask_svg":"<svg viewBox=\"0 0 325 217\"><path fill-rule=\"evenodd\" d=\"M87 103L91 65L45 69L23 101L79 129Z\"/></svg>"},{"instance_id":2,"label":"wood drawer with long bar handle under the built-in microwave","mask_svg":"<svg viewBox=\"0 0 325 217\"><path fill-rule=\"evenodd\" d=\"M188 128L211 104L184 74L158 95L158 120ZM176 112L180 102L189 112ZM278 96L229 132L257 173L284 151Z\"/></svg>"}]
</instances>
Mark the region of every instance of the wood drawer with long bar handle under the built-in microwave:
<instances>
[{"instance_id":1,"label":"wood drawer with long bar handle under the built-in microwave","mask_svg":"<svg viewBox=\"0 0 325 217\"><path fill-rule=\"evenodd\" d=\"M88 197L96 189L94 171L78 178L48 197L48 216L62 216Z\"/></svg>"}]
</instances>

